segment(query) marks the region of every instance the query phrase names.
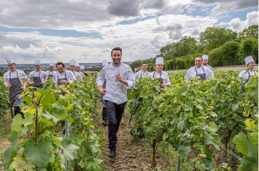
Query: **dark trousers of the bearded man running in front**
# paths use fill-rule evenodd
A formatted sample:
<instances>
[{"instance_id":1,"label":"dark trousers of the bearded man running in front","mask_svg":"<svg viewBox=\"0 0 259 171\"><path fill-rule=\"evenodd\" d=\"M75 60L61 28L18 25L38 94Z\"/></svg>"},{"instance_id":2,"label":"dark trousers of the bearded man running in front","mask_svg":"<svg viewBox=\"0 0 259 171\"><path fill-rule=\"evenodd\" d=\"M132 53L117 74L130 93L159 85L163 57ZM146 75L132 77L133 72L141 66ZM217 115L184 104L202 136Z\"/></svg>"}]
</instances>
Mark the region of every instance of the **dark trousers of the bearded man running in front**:
<instances>
[{"instance_id":1,"label":"dark trousers of the bearded man running in front","mask_svg":"<svg viewBox=\"0 0 259 171\"><path fill-rule=\"evenodd\" d=\"M109 100L105 100L107 119L109 120L108 139L109 139L110 151L116 151L116 144L117 144L116 133L119 130L119 125L120 125L122 114L124 112L125 105L126 105L126 102L118 105Z\"/></svg>"}]
</instances>

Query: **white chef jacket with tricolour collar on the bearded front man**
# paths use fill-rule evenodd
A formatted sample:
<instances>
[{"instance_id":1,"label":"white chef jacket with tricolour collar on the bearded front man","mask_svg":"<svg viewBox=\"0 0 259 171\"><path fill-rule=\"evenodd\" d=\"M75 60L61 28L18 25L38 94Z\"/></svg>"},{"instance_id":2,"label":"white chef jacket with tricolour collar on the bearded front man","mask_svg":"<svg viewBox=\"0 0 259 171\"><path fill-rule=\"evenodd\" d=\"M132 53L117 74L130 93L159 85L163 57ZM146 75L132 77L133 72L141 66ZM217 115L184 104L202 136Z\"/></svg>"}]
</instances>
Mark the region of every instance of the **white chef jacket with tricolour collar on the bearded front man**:
<instances>
[{"instance_id":1,"label":"white chef jacket with tricolour collar on the bearded front man","mask_svg":"<svg viewBox=\"0 0 259 171\"><path fill-rule=\"evenodd\" d=\"M117 81L115 75L120 73L121 77L127 81L128 86L120 81ZM104 100L109 100L118 105L126 102L127 99L127 88L133 88L135 86L134 73L130 66L120 63L118 66L114 66L113 63L105 65L100 70L97 76L97 85L103 85L104 79L106 78L106 93L103 96Z\"/></svg>"}]
</instances>

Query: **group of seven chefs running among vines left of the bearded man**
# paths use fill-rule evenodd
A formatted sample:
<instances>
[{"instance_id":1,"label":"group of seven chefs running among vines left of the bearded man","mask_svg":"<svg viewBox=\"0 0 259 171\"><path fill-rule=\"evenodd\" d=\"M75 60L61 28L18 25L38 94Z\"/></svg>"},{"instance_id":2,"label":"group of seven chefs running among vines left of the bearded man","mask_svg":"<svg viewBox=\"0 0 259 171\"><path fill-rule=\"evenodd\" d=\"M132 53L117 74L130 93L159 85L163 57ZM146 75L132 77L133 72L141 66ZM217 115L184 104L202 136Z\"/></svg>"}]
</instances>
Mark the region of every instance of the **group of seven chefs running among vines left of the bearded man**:
<instances>
[{"instance_id":1,"label":"group of seven chefs running among vines left of the bearded man","mask_svg":"<svg viewBox=\"0 0 259 171\"><path fill-rule=\"evenodd\" d=\"M65 70L65 65L62 62L56 64L57 71L54 71L54 63L50 62L49 70L46 72L40 69L40 60L35 60L35 70L30 72L29 77L27 77L24 71L15 68L14 57L6 57L5 59L10 70L4 73L4 86L9 88L9 100L14 107L14 115L21 113L19 106L23 102L23 96L20 97L20 95L25 90L27 83L36 88L44 88L47 79L52 78L55 87L57 87L61 84L72 84L73 80L83 79L87 76L84 73L84 66L80 66L75 60L70 60L70 71Z\"/></svg>"}]
</instances>

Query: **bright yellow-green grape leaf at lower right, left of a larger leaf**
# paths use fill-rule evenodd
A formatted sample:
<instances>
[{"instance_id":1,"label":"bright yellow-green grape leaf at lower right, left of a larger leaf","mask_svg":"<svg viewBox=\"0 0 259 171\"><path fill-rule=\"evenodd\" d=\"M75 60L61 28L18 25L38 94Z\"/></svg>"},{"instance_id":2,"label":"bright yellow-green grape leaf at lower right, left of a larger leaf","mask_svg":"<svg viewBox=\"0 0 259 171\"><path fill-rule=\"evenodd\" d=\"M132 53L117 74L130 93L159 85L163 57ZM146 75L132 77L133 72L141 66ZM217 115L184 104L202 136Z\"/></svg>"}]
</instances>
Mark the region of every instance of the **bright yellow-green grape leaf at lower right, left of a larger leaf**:
<instances>
[{"instance_id":1,"label":"bright yellow-green grape leaf at lower right, left of a larger leaf","mask_svg":"<svg viewBox=\"0 0 259 171\"><path fill-rule=\"evenodd\" d=\"M236 150L238 150L239 152L247 155L248 154L248 150L247 150L247 136L240 132L238 135L236 135L234 138L233 138L233 143L236 144Z\"/></svg>"}]
</instances>

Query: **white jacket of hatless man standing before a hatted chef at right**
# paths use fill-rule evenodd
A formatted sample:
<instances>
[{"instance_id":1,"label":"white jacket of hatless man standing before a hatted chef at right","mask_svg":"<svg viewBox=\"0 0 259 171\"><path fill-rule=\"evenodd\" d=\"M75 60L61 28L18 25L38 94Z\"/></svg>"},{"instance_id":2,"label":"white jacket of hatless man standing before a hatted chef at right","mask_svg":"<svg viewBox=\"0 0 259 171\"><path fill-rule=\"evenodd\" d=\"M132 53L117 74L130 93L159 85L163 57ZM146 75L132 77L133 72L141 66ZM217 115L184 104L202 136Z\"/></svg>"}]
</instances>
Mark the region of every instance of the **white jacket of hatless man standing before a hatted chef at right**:
<instances>
[{"instance_id":1,"label":"white jacket of hatless man standing before a hatted chef at right","mask_svg":"<svg viewBox=\"0 0 259 171\"><path fill-rule=\"evenodd\" d=\"M184 78L186 78L187 80L189 80L190 78L195 78L196 77L195 68L197 69L198 74L204 74L205 72L207 79L208 77L215 78L213 72L211 72L211 70L208 67L203 67L203 66L200 66L200 68L197 68L197 66L193 66L189 68ZM204 72L202 68L204 69Z\"/></svg>"}]
</instances>

